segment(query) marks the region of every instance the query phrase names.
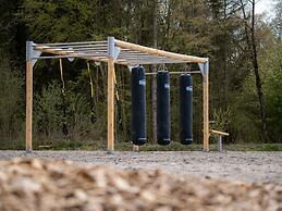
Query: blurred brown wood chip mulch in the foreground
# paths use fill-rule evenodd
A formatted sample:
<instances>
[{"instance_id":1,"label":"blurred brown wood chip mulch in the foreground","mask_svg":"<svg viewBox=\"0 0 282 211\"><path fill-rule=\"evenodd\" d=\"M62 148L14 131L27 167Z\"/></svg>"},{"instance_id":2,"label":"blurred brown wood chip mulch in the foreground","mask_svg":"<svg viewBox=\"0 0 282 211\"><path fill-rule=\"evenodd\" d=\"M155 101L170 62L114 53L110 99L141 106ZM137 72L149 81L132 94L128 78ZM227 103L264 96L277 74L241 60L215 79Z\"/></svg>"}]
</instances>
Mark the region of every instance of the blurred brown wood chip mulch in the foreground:
<instances>
[{"instance_id":1,"label":"blurred brown wood chip mulch in the foreground","mask_svg":"<svg viewBox=\"0 0 282 211\"><path fill-rule=\"evenodd\" d=\"M0 162L0 210L282 211L282 185L15 159Z\"/></svg>"}]
</instances>

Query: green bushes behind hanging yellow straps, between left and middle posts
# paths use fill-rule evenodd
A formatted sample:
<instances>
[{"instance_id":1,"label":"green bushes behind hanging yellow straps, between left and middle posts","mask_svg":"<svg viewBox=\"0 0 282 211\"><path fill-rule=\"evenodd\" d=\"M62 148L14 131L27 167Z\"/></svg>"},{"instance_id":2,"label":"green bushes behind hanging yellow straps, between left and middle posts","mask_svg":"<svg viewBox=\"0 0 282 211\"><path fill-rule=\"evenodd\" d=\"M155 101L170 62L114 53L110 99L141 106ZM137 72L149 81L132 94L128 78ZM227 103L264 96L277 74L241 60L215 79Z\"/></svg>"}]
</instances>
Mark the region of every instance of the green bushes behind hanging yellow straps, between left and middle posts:
<instances>
[{"instance_id":1,"label":"green bushes behind hanging yellow straps, between left and middle posts","mask_svg":"<svg viewBox=\"0 0 282 211\"><path fill-rule=\"evenodd\" d=\"M84 74L82 74L84 77ZM78 79L82 82L84 79ZM88 82L84 82L87 84ZM97 122L90 121L89 91L76 94L79 83L66 84L65 102L62 101L61 84L53 80L44 87L35 97L34 123L38 139L101 139L105 138L106 110L103 104L95 104ZM63 115L65 109L65 116ZM63 135L63 124L68 126L68 135Z\"/></svg>"}]
</instances>

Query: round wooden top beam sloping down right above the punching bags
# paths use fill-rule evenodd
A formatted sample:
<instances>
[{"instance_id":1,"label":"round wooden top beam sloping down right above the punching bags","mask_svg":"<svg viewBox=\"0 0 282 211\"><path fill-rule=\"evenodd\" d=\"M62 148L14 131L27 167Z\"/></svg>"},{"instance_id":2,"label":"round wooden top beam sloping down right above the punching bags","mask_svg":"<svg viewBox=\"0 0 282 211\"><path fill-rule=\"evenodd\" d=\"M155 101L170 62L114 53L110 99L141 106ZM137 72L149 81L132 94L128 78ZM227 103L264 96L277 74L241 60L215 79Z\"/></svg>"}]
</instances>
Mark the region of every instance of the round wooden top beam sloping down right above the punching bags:
<instances>
[{"instance_id":1,"label":"round wooden top beam sloping down right above the punching bags","mask_svg":"<svg viewBox=\"0 0 282 211\"><path fill-rule=\"evenodd\" d=\"M205 62L208 61L205 58L198 58L198 57L193 57L193 55L185 55L185 54L180 54L180 53L168 52L168 51L158 50L158 49L155 49L155 48L148 48L148 47L144 47L144 46L135 45L135 44L130 44L130 42L121 41L121 40L117 40L117 39L115 39L115 45L120 48L136 50L138 52L164 57L164 58L172 59L172 60L182 60L182 61L185 61L185 62L195 62L195 63L205 63Z\"/></svg>"}]
</instances>

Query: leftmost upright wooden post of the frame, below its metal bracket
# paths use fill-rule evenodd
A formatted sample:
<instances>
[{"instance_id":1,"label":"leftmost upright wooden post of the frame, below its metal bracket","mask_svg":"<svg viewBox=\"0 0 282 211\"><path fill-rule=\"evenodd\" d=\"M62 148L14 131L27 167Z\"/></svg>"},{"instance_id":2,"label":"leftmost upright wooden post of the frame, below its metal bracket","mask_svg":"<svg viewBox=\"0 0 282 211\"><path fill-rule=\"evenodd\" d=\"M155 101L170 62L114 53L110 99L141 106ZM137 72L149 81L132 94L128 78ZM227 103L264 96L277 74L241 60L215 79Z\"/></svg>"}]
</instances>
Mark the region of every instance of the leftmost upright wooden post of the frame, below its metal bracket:
<instances>
[{"instance_id":1,"label":"leftmost upright wooden post of the frame, below its metal bracket","mask_svg":"<svg viewBox=\"0 0 282 211\"><path fill-rule=\"evenodd\" d=\"M26 61L25 149L33 150L33 61Z\"/></svg>"}]
</instances>

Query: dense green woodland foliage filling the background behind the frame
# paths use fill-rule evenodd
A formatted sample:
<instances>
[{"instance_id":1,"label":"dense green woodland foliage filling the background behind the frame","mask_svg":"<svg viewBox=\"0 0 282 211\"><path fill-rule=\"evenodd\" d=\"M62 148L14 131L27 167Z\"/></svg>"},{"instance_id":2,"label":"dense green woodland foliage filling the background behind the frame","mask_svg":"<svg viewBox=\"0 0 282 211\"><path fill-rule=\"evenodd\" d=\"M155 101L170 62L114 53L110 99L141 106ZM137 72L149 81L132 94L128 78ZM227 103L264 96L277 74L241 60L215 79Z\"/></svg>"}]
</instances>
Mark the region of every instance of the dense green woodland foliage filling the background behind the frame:
<instances>
[{"instance_id":1,"label":"dense green woodland foliage filling the background behind the frame","mask_svg":"<svg viewBox=\"0 0 282 211\"><path fill-rule=\"evenodd\" d=\"M101 40L108 36L151 46L154 9L157 8L158 48L210 58L210 115L217 129L231 135L229 142L260 141L260 113L252 71L246 23L242 21L242 5L247 1L222 0L21 0L4 1L0 8L0 136L1 139L23 139L24 127L24 58L25 40L36 42ZM245 7L246 12L249 8ZM281 3L271 25L257 17L256 41L259 73L266 97L267 123L271 141L281 142L282 132L282 71L281 42L275 39L281 27ZM275 29L272 30L272 27ZM248 32L248 30L247 30ZM3 52L3 55L2 55ZM107 138L107 66L90 64L95 84L94 112L89 75L85 61L63 60L66 82L65 104L62 102L58 61L38 61L34 72L34 134L36 146L63 140L72 148L81 148L76 140L101 142ZM131 134L130 73L117 66L115 103L117 142L128 142ZM158 66L161 69L163 66ZM168 65L170 71L183 65ZM54 71L56 70L56 71ZM146 66L151 71L150 66ZM188 70L198 70L188 65ZM151 138L151 79L147 79L148 138ZM194 139L201 141L203 96L201 78L194 77ZM65 117L63 108L65 107ZM171 77L172 139L179 140L179 78ZM62 133L63 123L69 128ZM35 140L35 141L36 141ZM40 142L44 140L44 142ZM65 142L64 142L65 141ZM60 141L59 141L60 142ZM78 141L77 141L78 142ZM105 142L105 141L103 141ZM121 144L122 145L122 144ZM124 144L128 146L128 144ZM173 144L170 150L186 150ZM94 149L89 144L89 149ZM164 150L146 146L148 150ZM144 147L144 148L146 148ZM56 147L54 147L56 148ZM58 144L58 149L60 148ZM83 147L82 147L83 148ZM192 147L193 148L193 147ZM57 148L56 148L57 149ZM123 149L121 147L121 149ZM127 148L126 148L127 149ZM187 148L188 150L189 148ZM130 150L130 148L128 148Z\"/></svg>"}]
</instances>

